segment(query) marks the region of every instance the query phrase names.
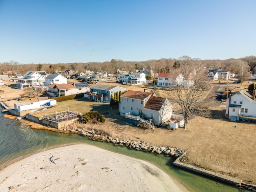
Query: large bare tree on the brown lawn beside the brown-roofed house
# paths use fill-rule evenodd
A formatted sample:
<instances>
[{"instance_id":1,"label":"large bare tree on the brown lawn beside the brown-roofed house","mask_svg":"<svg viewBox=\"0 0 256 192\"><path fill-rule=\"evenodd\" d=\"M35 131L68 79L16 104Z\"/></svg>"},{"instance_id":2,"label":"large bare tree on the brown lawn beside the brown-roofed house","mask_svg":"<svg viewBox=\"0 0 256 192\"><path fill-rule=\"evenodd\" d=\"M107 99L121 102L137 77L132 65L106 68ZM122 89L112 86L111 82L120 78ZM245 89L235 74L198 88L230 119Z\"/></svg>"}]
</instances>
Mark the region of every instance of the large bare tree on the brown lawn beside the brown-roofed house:
<instances>
[{"instance_id":1,"label":"large bare tree on the brown lawn beside the brown-roofed house","mask_svg":"<svg viewBox=\"0 0 256 192\"><path fill-rule=\"evenodd\" d=\"M204 96L210 88L207 70L198 60L185 58L180 62L180 67L170 70L170 79L174 92L172 101L180 105L184 116L184 129L192 115L209 117L210 111L200 109L204 104Z\"/></svg>"}]
</instances>

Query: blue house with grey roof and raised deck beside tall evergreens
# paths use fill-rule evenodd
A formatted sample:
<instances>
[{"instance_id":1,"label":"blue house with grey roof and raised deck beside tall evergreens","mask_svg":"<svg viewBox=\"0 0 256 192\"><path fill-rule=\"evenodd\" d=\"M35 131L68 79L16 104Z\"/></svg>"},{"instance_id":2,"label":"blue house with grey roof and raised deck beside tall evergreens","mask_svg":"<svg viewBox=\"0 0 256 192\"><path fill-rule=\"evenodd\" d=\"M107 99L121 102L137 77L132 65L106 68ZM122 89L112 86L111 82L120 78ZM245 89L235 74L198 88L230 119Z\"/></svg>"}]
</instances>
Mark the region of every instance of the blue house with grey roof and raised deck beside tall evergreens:
<instances>
[{"instance_id":1,"label":"blue house with grey roof and raised deck beside tall evergreens","mask_svg":"<svg viewBox=\"0 0 256 192\"><path fill-rule=\"evenodd\" d=\"M96 84L90 87L90 92L84 94L84 97L93 101L110 102L111 95L114 96L116 92L124 92L126 88L119 86L110 86Z\"/></svg>"}]
</instances>

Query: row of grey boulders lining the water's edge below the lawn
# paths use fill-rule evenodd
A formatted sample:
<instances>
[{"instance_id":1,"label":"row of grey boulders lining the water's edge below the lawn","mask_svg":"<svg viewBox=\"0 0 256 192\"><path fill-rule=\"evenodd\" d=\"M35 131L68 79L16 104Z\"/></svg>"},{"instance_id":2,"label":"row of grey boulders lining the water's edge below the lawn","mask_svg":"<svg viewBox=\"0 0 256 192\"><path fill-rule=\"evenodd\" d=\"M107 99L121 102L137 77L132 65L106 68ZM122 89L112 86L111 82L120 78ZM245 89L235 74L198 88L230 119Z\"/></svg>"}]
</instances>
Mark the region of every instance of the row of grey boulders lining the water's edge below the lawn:
<instances>
[{"instance_id":1,"label":"row of grey boulders lining the water's edge below the lawn","mask_svg":"<svg viewBox=\"0 0 256 192\"><path fill-rule=\"evenodd\" d=\"M70 133L79 134L84 137L89 137L92 140L98 140L102 142L112 143L115 146L126 146L130 149L134 150L143 150L145 152L151 152L155 154L163 154L165 156L171 156L174 158L178 158L182 155L185 150L179 148L172 147L164 147L164 146L153 146L151 144L142 142L142 141L131 141L131 140L121 140L119 138L112 138L106 134L102 134L97 130L82 130L82 129L61 129L63 131L69 131Z\"/></svg>"}]
</instances>

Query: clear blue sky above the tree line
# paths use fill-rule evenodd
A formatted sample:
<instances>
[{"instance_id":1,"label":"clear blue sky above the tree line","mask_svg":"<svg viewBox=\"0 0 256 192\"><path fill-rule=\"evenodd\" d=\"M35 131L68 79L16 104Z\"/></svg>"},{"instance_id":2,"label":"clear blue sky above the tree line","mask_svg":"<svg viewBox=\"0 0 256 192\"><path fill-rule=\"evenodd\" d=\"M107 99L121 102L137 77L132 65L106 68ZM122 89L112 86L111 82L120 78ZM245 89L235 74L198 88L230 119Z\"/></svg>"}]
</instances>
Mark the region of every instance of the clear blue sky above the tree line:
<instances>
[{"instance_id":1,"label":"clear blue sky above the tree line","mask_svg":"<svg viewBox=\"0 0 256 192\"><path fill-rule=\"evenodd\" d=\"M255 0L0 0L0 62L256 55Z\"/></svg>"}]
</instances>

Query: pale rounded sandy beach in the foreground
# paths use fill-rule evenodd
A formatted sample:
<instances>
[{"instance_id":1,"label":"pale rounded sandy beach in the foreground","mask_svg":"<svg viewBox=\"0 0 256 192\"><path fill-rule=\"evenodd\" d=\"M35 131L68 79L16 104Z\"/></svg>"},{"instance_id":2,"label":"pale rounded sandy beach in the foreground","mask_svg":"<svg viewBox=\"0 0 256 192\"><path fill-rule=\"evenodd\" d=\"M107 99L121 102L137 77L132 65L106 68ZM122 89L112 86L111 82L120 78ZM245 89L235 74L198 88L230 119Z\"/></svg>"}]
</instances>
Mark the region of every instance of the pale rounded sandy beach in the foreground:
<instances>
[{"instance_id":1,"label":"pale rounded sandy beach in the foreground","mask_svg":"<svg viewBox=\"0 0 256 192\"><path fill-rule=\"evenodd\" d=\"M1 192L188 191L156 166L88 144L53 148L0 171Z\"/></svg>"}]
</instances>

